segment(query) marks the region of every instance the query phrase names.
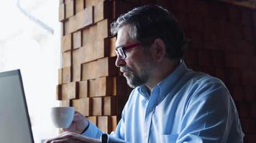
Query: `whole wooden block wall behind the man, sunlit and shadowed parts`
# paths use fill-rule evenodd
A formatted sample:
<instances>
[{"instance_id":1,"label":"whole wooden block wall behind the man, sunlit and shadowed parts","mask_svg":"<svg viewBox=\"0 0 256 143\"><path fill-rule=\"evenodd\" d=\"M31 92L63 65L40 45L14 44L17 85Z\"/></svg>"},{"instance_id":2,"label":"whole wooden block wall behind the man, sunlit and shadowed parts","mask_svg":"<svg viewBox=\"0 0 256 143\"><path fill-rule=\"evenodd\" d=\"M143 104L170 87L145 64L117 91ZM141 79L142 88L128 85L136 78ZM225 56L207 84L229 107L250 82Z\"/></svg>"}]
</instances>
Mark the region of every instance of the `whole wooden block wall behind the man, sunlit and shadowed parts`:
<instances>
[{"instance_id":1,"label":"whole wooden block wall behind the man, sunlit and shadowed parts","mask_svg":"<svg viewBox=\"0 0 256 143\"><path fill-rule=\"evenodd\" d=\"M191 39L186 64L224 81L239 111L244 142L254 142L256 11L220 1L61 0L63 63L58 71L57 98L65 99L62 105L76 106L105 132L114 130L130 89L114 66L116 37L109 35L109 24L132 7L144 4L159 4L173 11ZM75 91L71 87L61 89L73 82L78 82L76 95L62 93ZM78 101L86 99L91 102L83 107ZM116 107L112 107L115 102Z\"/></svg>"}]
</instances>

